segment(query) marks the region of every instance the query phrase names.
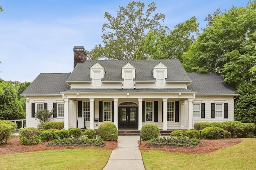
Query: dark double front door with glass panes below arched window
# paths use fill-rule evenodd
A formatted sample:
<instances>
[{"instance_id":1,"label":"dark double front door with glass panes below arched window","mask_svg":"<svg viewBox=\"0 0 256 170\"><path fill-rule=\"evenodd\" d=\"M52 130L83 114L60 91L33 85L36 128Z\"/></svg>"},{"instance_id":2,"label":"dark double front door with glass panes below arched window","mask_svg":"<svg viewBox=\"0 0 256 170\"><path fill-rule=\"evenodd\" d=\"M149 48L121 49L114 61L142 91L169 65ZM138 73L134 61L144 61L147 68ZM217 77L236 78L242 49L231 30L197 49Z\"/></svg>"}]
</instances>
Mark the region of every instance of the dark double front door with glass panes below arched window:
<instances>
[{"instance_id":1,"label":"dark double front door with glass panes below arched window","mask_svg":"<svg viewBox=\"0 0 256 170\"><path fill-rule=\"evenodd\" d=\"M138 128L138 107L119 107L118 128Z\"/></svg>"}]
</instances>

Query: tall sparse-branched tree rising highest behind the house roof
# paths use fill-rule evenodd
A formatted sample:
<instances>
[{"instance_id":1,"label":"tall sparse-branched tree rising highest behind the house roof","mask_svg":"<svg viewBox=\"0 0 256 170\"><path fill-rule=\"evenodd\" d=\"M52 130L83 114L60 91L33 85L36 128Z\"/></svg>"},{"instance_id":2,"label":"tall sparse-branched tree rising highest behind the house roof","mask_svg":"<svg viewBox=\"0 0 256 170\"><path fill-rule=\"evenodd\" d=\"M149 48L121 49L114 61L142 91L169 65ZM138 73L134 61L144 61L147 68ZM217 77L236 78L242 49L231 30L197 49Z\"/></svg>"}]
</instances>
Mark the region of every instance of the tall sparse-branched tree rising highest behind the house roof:
<instances>
[{"instance_id":1,"label":"tall sparse-branched tree rising highest behind the house roof","mask_svg":"<svg viewBox=\"0 0 256 170\"><path fill-rule=\"evenodd\" d=\"M159 33L164 28L160 21L164 21L165 16L155 13L155 2L148 4L145 14L144 7L144 3L132 1L126 8L119 6L116 17L105 12L104 18L108 23L102 26L104 47L96 45L88 57L133 59L134 53L146 38L147 30Z\"/></svg>"}]
</instances>

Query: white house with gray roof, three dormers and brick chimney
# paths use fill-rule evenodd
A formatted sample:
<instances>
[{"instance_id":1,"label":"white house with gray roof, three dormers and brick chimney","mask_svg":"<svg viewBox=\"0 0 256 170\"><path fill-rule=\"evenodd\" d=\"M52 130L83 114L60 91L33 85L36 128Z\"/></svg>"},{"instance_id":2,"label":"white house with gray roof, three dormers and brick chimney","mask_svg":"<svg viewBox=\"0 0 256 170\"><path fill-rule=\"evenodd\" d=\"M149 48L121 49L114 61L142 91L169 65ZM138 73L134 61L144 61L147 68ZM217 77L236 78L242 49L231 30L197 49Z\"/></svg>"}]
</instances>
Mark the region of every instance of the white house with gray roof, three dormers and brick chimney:
<instances>
[{"instance_id":1,"label":"white house with gray roof, three dormers and brick chimney","mask_svg":"<svg viewBox=\"0 0 256 170\"><path fill-rule=\"evenodd\" d=\"M112 122L118 129L154 123L174 130L233 121L237 93L222 81L219 73L186 73L178 59L86 60L84 47L74 47L72 73L40 73L22 93L26 127L36 127L35 113L46 108L65 129Z\"/></svg>"}]
</instances>

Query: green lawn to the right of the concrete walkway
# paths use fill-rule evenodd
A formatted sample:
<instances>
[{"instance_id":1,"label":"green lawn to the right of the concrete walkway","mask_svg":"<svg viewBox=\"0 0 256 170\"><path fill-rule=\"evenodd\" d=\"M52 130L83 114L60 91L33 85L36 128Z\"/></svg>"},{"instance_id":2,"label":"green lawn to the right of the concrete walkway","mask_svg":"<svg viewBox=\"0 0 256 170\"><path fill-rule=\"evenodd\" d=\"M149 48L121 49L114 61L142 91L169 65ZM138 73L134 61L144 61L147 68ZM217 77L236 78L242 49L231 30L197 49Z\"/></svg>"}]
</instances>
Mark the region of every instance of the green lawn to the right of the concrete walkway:
<instances>
[{"instance_id":1,"label":"green lawn to the right of the concrete walkway","mask_svg":"<svg viewBox=\"0 0 256 170\"><path fill-rule=\"evenodd\" d=\"M161 150L142 150L146 170L178 169L239 169L256 168L256 139L242 138L242 142L208 154L185 154Z\"/></svg>"}]
</instances>

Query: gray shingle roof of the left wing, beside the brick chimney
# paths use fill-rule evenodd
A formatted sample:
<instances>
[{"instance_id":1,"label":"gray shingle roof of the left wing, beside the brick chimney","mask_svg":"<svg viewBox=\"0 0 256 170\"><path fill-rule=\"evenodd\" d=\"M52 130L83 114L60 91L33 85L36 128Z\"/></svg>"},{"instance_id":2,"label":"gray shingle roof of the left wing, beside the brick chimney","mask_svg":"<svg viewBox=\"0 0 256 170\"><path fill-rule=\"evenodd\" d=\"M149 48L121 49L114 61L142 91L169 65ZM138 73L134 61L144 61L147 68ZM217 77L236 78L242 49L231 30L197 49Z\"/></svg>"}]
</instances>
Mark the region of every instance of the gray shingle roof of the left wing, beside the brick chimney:
<instances>
[{"instance_id":1,"label":"gray shingle roof of the left wing, beside the brick chimney","mask_svg":"<svg viewBox=\"0 0 256 170\"><path fill-rule=\"evenodd\" d=\"M22 95L60 95L60 92L70 89L66 83L69 76L70 73L40 73Z\"/></svg>"}]
</instances>

